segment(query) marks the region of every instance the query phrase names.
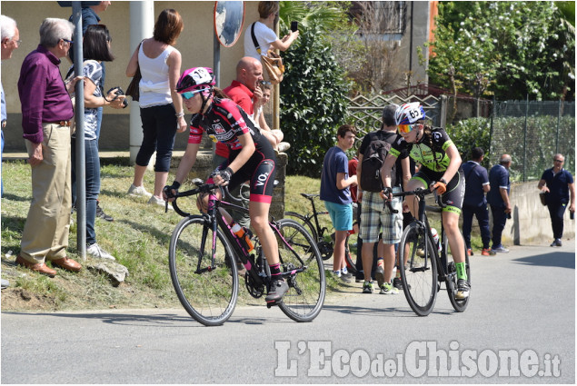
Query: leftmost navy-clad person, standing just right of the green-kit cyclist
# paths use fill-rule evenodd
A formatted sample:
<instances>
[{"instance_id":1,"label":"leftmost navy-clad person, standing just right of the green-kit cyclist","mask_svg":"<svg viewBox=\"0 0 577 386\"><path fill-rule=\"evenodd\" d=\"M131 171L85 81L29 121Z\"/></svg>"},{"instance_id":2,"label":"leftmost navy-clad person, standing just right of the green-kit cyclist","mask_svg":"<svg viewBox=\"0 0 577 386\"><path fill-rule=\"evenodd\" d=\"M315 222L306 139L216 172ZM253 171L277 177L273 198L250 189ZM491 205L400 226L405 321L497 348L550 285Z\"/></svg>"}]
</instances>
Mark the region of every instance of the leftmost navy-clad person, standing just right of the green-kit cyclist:
<instances>
[{"instance_id":1,"label":"leftmost navy-clad person, standing just right of the green-kit cyclist","mask_svg":"<svg viewBox=\"0 0 577 386\"><path fill-rule=\"evenodd\" d=\"M477 217L481 230L483 256L494 254L489 248L491 233L489 231L489 210L485 193L491 190L487 169L481 166L484 158L484 151L481 147L473 148L471 152L473 160L463 163L463 173L465 176L465 196L463 200L463 238L467 245L467 254L473 255L471 249L471 226L473 224L473 214Z\"/></svg>"}]
</instances>

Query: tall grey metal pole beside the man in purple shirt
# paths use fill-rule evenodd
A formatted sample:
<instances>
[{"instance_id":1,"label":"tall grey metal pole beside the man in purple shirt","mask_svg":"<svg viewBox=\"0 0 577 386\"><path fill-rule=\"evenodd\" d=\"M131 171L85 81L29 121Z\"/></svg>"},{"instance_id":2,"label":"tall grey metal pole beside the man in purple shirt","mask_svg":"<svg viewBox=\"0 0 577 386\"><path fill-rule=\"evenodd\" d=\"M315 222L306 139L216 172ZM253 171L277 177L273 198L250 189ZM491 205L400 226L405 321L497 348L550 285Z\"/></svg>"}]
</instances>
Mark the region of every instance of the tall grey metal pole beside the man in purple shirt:
<instances>
[{"instance_id":1,"label":"tall grey metal pole beside the man in purple shirt","mask_svg":"<svg viewBox=\"0 0 577 386\"><path fill-rule=\"evenodd\" d=\"M82 3L72 2L75 25L75 74L83 74ZM76 249L82 260L86 260L86 170L85 170L85 83L76 82Z\"/></svg>"}]
</instances>

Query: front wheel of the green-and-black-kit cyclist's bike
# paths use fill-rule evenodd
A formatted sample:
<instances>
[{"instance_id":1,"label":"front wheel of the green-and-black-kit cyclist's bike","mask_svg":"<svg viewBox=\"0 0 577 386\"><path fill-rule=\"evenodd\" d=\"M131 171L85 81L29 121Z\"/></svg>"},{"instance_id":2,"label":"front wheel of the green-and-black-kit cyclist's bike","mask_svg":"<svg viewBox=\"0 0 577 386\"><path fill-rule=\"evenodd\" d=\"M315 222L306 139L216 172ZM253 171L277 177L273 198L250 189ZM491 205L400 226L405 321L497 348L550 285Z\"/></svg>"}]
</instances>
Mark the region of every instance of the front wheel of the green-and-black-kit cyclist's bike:
<instances>
[{"instance_id":1,"label":"front wheel of the green-and-black-kit cyclist's bike","mask_svg":"<svg viewBox=\"0 0 577 386\"><path fill-rule=\"evenodd\" d=\"M399 264L403 292L413 312L419 316L431 313L437 298L437 262L433 242L425 237L425 232L423 225L411 223L404 230L399 244L400 261L404 261L405 255L408 257L405 264Z\"/></svg>"}]
</instances>

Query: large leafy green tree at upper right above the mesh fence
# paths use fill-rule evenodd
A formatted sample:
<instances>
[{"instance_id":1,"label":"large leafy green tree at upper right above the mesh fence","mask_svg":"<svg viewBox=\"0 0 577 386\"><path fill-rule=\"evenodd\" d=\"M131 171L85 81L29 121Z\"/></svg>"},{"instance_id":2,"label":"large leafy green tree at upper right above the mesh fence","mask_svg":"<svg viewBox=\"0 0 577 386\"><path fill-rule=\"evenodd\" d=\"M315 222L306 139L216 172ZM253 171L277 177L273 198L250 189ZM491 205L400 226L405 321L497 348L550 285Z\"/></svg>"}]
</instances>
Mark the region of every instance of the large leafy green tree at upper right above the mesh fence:
<instances>
[{"instance_id":1,"label":"large leafy green tree at upper right above the mesh fence","mask_svg":"<svg viewBox=\"0 0 577 386\"><path fill-rule=\"evenodd\" d=\"M574 27L553 2L441 2L432 45L431 82L453 92L574 99Z\"/></svg>"}]
</instances>

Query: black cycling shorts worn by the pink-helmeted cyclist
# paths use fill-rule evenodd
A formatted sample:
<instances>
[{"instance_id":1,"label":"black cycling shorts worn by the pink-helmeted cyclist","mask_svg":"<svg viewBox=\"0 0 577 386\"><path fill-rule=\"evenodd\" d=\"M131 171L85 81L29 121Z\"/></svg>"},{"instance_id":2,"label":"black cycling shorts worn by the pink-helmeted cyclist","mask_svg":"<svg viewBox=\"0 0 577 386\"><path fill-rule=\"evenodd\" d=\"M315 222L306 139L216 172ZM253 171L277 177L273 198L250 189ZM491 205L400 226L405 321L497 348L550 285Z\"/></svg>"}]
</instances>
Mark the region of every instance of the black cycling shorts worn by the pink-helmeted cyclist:
<instances>
[{"instance_id":1,"label":"black cycling shorts worn by the pink-helmeted cyclist","mask_svg":"<svg viewBox=\"0 0 577 386\"><path fill-rule=\"evenodd\" d=\"M251 158L244 163L236 173L231 177L228 184L229 191L242 183L251 182L251 196L250 201L256 203L271 203L273 201L274 175L276 173L275 163L276 156L274 155L273 146L268 142L264 135L258 138L254 145L254 150ZM241 153L241 150L231 150L228 160L221 163L217 170L224 170L234 158Z\"/></svg>"}]
</instances>

